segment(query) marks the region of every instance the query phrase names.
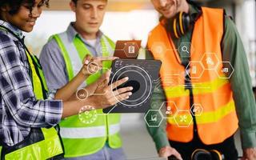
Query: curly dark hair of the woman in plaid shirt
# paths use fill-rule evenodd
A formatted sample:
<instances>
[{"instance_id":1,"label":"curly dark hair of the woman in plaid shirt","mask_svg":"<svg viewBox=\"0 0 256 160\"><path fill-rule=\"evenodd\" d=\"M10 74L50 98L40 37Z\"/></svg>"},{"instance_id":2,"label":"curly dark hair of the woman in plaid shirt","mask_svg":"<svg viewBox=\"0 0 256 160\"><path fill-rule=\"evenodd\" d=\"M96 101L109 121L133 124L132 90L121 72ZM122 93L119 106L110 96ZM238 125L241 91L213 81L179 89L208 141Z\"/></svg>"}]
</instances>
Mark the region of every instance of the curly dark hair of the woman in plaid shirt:
<instances>
[{"instance_id":1,"label":"curly dark hair of the woman in plaid shirt","mask_svg":"<svg viewBox=\"0 0 256 160\"><path fill-rule=\"evenodd\" d=\"M30 8L30 12L32 12L35 0L0 0L0 8L2 6L10 6L9 14L17 14L19 8L22 6L22 4L28 4ZM49 0L42 0L41 1L42 6L46 5L49 6ZM0 15L1 18L1 15Z\"/></svg>"}]
</instances>

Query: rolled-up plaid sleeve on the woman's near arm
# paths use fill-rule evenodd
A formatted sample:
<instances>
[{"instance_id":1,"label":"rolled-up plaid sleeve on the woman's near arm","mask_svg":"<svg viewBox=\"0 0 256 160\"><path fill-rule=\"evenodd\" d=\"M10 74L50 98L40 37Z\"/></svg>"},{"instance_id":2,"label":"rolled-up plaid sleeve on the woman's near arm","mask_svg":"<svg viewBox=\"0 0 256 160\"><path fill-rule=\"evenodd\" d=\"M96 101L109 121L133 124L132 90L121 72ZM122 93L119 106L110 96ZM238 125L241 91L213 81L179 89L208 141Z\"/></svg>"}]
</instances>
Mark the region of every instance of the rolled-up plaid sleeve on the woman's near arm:
<instances>
[{"instance_id":1,"label":"rolled-up plaid sleeve on the woman's near arm","mask_svg":"<svg viewBox=\"0 0 256 160\"><path fill-rule=\"evenodd\" d=\"M7 36L0 41L0 88L6 110L21 126L47 127L58 124L62 117L62 101L35 98L20 50Z\"/></svg>"}]
</instances>

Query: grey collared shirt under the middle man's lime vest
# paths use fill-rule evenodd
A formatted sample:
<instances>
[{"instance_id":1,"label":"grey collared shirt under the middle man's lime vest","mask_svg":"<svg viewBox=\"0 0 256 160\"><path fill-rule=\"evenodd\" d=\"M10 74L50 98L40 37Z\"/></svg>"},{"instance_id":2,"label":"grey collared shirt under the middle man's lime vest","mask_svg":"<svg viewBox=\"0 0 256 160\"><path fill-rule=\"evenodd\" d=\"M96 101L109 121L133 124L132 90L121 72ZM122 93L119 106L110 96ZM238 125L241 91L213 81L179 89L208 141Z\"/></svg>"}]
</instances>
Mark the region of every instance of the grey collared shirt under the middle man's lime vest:
<instances>
[{"instance_id":1,"label":"grey collared shirt under the middle man's lime vest","mask_svg":"<svg viewBox=\"0 0 256 160\"><path fill-rule=\"evenodd\" d=\"M102 56L102 46L100 43L100 39L103 35L102 32L98 31L96 45L91 46L90 43L86 41L86 39L82 38L82 36L78 34L76 30L74 30L72 25L73 23L71 22L70 26L68 26L66 30L68 38L73 39L75 36L79 36L79 38L82 39L82 42L84 42L87 49L93 56ZM66 71L66 63L58 43L54 40L54 38L47 42L45 46L43 46L39 60L42 65L49 90L58 90L69 82L68 74Z\"/></svg>"}]
</instances>

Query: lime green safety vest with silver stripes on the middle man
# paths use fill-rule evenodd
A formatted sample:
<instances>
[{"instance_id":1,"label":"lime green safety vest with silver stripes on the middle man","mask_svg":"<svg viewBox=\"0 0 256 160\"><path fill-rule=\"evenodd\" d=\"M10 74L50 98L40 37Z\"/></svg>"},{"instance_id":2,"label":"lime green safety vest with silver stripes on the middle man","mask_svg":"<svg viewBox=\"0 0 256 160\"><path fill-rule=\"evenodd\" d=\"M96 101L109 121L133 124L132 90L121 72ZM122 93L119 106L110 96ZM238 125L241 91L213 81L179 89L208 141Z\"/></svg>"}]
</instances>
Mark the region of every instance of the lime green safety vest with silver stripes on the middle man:
<instances>
[{"instance_id":1,"label":"lime green safety vest with silver stripes on the middle man","mask_svg":"<svg viewBox=\"0 0 256 160\"><path fill-rule=\"evenodd\" d=\"M82 59L86 54L90 54L90 51L78 36L76 36L72 42L66 32L55 34L52 38L55 39L60 50L62 50L69 80L71 80L81 69ZM110 41L105 35L102 35L100 42L102 46L102 56L112 55L114 52L114 42ZM110 66L110 62L103 62L103 68L109 69ZM86 84L89 85L95 82L100 75L100 72L90 75L90 77L86 79ZM96 111L98 114L97 119L90 124L82 123L78 115L66 118L60 123L66 158L94 154L102 149L106 140L108 140L111 148L119 148L122 146L121 138L118 134L120 130L120 115L104 115L102 110Z\"/></svg>"}]
</instances>

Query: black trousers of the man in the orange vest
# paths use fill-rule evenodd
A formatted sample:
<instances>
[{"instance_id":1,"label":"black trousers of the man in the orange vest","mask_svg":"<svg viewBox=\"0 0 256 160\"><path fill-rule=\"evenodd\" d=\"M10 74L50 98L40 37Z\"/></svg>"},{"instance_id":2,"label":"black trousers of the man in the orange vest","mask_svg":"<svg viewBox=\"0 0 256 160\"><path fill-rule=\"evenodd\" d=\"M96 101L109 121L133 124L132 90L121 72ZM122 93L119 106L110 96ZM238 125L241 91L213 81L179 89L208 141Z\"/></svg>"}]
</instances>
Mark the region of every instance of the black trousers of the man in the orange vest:
<instances>
[{"instance_id":1,"label":"black trousers of the man in the orange vest","mask_svg":"<svg viewBox=\"0 0 256 160\"><path fill-rule=\"evenodd\" d=\"M230 138L227 138L224 142L218 143L215 145L205 145L198 138L198 134L194 133L194 138L191 142L174 142L169 141L170 146L174 147L179 154L182 155L183 160L190 160L191 154L196 149L205 149L205 150L218 150L224 154L225 160L237 160L238 159L238 150L234 146L234 135ZM170 158L169 158L170 159ZM207 159L206 159L207 160Z\"/></svg>"}]
</instances>

